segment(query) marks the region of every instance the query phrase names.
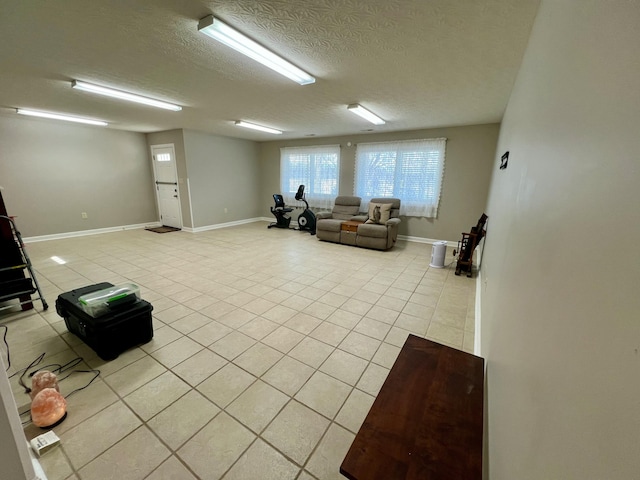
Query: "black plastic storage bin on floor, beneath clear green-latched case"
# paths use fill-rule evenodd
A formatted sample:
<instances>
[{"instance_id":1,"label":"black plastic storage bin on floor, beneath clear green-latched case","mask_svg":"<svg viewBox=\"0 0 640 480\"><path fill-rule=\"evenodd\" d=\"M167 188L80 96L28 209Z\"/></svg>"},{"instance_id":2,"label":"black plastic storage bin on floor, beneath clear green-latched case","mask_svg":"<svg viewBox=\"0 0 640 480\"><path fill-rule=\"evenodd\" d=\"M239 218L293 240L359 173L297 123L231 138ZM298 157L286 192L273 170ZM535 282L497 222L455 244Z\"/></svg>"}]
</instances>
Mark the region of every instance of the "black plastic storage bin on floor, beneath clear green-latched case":
<instances>
[{"instance_id":1,"label":"black plastic storage bin on floor, beneath clear green-latched case","mask_svg":"<svg viewBox=\"0 0 640 480\"><path fill-rule=\"evenodd\" d=\"M89 345L103 360L113 360L129 348L149 342L153 338L151 311L153 306L144 300L119 305L110 312L94 318L86 313L78 298L87 293L113 287L98 283L63 293L56 300L56 312L67 329Z\"/></svg>"}]
</instances>

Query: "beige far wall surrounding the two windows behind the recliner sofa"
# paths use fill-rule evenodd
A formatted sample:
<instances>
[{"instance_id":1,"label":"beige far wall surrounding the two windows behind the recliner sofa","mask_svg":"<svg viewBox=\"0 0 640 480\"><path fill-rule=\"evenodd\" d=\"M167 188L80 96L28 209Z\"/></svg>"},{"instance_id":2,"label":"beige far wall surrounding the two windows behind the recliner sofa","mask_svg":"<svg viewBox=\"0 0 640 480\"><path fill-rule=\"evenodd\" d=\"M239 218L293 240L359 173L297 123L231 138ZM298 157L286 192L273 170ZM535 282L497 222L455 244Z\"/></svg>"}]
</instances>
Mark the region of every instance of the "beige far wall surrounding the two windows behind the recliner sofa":
<instances>
[{"instance_id":1,"label":"beige far wall surrounding the two windows behind the recliner sofa","mask_svg":"<svg viewBox=\"0 0 640 480\"><path fill-rule=\"evenodd\" d=\"M272 195L280 191L280 148L301 145L341 145L340 194L353 195L355 152L358 142L416 138L447 138L444 183L438 218L403 217L400 234L435 240L459 240L476 224L487 200L491 165L496 152L498 124L450 127L394 133L371 133L331 138L273 141L260 145L262 215L270 216ZM348 147L347 143L352 146ZM364 210L364 206L363 206Z\"/></svg>"}]
</instances>

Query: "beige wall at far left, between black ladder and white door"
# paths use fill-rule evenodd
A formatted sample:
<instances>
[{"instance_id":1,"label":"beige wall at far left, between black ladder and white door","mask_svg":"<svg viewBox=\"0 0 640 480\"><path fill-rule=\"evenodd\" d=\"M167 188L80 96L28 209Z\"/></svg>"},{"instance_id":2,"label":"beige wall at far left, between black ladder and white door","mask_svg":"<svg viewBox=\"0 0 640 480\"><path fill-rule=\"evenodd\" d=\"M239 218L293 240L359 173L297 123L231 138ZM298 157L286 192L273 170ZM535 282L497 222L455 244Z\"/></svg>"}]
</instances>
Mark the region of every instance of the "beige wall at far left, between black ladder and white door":
<instances>
[{"instance_id":1,"label":"beige wall at far left, between black ladder and white door","mask_svg":"<svg viewBox=\"0 0 640 480\"><path fill-rule=\"evenodd\" d=\"M23 237L157 219L141 133L0 115L0 186Z\"/></svg>"}]
</instances>

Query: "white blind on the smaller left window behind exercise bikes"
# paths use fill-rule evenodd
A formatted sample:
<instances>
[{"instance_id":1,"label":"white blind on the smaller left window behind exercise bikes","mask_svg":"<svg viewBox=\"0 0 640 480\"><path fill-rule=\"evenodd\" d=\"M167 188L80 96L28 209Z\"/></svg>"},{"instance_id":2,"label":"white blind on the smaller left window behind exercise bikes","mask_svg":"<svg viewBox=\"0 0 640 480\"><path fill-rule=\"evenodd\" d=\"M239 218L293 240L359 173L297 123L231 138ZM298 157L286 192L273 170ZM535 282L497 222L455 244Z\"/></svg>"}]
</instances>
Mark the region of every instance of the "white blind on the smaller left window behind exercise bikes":
<instances>
[{"instance_id":1,"label":"white blind on the smaller left window behind exercise bikes","mask_svg":"<svg viewBox=\"0 0 640 480\"><path fill-rule=\"evenodd\" d=\"M331 208L338 195L340 145L280 149L280 190L286 204L294 203L300 185L312 207Z\"/></svg>"}]
</instances>

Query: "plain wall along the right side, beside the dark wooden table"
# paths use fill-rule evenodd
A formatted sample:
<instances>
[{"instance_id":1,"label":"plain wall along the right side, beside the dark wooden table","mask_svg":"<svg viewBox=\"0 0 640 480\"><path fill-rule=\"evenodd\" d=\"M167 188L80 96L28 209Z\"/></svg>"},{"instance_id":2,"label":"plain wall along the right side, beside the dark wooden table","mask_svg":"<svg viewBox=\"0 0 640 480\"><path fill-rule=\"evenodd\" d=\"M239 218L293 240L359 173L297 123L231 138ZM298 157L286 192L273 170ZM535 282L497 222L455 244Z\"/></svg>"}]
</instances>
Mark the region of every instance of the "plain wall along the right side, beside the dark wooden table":
<instances>
[{"instance_id":1,"label":"plain wall along the right side, beside the dark wooden table","mask_svg":"<svg viewBox=\"0 0 640 480\"><path fill-rule=\"evenodd\" d=\"M639 2L544 0L509 101L482 264L492 480L640 478L638 25Z\"/></svg>"}]
</instances>

